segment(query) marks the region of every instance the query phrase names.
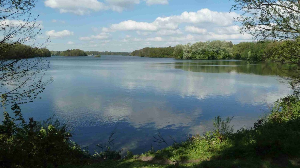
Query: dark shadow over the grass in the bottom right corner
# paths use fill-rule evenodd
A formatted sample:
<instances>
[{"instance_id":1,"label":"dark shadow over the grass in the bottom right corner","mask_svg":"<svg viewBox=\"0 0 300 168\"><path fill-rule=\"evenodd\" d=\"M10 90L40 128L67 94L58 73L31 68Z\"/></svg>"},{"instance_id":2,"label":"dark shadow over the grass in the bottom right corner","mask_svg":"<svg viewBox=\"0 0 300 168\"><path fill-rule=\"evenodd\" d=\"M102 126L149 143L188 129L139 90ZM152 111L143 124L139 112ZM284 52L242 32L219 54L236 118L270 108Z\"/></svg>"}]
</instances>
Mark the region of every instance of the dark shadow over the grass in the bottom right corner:
<instances>
[{"instance_id":1,"label":"dark shadow over the grass in the bottom right corner","mask_svg":"<svg viewBox=\"0 0 300 168\"><path fill-rule=\"evenodd\" d=\"M229 137L232 147L190 167L300 167L300 120L264 123Z\"/></svg>"}]
</instances>

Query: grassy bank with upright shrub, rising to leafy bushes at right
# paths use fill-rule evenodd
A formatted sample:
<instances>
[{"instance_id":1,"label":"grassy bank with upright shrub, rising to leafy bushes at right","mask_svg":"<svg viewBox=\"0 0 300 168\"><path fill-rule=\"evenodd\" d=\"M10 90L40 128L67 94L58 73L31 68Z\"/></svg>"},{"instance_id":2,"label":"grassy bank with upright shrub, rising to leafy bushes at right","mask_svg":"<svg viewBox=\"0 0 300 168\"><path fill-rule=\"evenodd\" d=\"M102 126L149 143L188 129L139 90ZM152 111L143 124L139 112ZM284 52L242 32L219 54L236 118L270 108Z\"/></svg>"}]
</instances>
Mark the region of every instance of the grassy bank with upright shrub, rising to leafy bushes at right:
<instances>
[{"instance_id":1,"label":"grassy bank with upright shrub, rising to leafy bushes at right","mask_svg":"<svg viewBox=\"0 0 300 168\"><path fill-rule=\"evenodd\" d=\"M96 167L300 167L299 95L278 100L265 118L253 128L232 132L231 118L216 117L214 130L193 135L162 150L150 150L127 159L106 160L89 165L64 168Z\"/></svg>"}]
</instances>

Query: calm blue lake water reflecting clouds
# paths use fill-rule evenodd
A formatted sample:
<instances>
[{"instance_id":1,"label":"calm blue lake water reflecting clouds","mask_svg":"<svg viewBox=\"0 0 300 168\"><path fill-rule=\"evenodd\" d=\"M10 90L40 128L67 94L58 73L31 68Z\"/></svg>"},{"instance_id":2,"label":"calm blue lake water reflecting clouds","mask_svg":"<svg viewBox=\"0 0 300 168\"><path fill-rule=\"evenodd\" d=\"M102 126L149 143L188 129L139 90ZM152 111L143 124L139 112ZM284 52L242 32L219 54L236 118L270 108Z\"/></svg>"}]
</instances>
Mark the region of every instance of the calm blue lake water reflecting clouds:
<instances>
[{"instance_id":1,"label":"calm blue lake water reflecting clouds","mask_svg":"<svg viewBox=\"0 0 300 168\"><path fill-rule=\"evenodd\" d=\"M214 116L234 116L235 130L253 126L268 103L291 93L274 63L176 60L133 56L47 58L43 99L22 105L26 118L53 115L73 126L73 140L92 152L116 127L116 149L145 152L157 128L169 145L208 130Z\"/></svg>"}]
</instances>

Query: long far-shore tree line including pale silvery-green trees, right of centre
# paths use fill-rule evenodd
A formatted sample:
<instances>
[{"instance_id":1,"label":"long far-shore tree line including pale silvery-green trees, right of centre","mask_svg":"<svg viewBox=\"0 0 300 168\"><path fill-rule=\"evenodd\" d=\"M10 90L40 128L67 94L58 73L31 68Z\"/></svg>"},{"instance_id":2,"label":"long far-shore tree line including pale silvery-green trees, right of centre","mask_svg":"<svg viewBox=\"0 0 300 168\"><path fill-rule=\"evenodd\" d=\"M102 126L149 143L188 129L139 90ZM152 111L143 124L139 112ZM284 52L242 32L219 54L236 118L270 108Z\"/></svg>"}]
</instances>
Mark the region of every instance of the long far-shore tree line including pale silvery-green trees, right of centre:
<instances>
[{"instance_id":1,"label":"long far-shore tree line including pale silvery-green trees, right of centre","mask_svg":"<svg viewBox=\"0 0 300 168\"><path fill-rule=\"evenodd\" d=\"M170 57L176 59L243 59L249 61L278 60L278 49L286 42L241 42L233 45L226 41L196 42L165 48L143 48L135 50L132 56Z\"/></svg>"}]
</instances>

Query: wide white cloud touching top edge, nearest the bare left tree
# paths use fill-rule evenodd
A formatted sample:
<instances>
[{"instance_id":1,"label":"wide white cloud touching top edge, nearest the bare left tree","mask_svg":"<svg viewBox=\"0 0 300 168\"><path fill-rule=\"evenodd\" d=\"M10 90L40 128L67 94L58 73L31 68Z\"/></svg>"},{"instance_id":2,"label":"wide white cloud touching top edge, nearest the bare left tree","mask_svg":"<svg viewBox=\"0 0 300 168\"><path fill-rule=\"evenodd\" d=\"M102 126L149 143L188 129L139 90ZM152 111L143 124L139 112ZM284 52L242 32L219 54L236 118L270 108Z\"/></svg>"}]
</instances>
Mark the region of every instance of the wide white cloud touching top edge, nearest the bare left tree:
<instances>
[{"instance_id":1,"label":"wide white cloud touching top edge, nearest the bare left tree","mask_svg":"<svg viewBox=\"0 0 300 168\"><path fill-rule=\"evenodd\" d=\"M98 0L46 0L44 2L46 7L59 9L60 13L75 13L83 15L90 13L91 10L107 10L104 3Z\"/></svg>"}]
</instances>

